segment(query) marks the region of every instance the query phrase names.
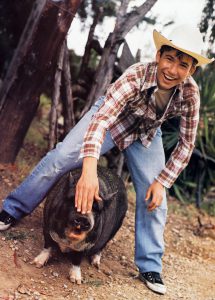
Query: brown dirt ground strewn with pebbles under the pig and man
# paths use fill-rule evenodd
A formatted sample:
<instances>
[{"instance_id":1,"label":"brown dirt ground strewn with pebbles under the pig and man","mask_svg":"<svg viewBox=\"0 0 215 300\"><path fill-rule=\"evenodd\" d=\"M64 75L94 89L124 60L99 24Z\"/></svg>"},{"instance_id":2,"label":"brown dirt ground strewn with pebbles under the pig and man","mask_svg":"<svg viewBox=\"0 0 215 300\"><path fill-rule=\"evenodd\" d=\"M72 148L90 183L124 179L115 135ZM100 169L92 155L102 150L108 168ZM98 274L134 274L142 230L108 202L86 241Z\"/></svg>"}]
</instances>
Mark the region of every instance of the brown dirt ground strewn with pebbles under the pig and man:
<instances>
[{"instance_id":1,"label":"brown dirt ground strewn with pebbles under the pig and man","mask_svg":"<svg viewBox=\"0 0 215 300\"><path fill-rule=\"evenodd\" d=\"M20 169L0 167L0 203L21 177ZM17 226L1 232L0 300L215 300L215 230L210 229L215 218L169 199L163 258L167 294L160 296L137 278L133 262L134 194L130 190L129 210L122 228L104 250L99 270L88 261L83 262L82 285L69 281L70 262L66 257L53 258L43 269L31 264L43 247L43 205ZM198 232L198 216L209 225L208 229Z\"/></svg>"}]
</instances>

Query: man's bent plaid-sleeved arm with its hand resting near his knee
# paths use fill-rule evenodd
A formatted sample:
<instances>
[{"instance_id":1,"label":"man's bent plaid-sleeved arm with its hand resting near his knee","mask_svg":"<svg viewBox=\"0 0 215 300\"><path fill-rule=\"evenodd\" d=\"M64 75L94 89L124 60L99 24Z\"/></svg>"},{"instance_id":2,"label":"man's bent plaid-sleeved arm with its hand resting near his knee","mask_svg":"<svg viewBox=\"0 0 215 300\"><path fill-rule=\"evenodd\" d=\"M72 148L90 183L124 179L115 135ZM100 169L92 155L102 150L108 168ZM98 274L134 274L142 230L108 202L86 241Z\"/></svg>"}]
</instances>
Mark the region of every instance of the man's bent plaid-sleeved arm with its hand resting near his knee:
<instances>
[{"instance_id":1,"label":"man's bent plaid-sleeved arm with its hand resting near his knee","mask_svg":"<svg viewBox=\"0 0 215 300\"><path fill-rule=\"evenodd\" d=\"M152 199L148 206L149 210L153 210L161 204L164 188L170 188L173 185L179 174L187 166L193 152L199 122L200 99L198 89L189 93L190 97L186 99L187 105L181 116L179 141L165 168L147 191L145 200Z\"/></svg>"}]
</instances>

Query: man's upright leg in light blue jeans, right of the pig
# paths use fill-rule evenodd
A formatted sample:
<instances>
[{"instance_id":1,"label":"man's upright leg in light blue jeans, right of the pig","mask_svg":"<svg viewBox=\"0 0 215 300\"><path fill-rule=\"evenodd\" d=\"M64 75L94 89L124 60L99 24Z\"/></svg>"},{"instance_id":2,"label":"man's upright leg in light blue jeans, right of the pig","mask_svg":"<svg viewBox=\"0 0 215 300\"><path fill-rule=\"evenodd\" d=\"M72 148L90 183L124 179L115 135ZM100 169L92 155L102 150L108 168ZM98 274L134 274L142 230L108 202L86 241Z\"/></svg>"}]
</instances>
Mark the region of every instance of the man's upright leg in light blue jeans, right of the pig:
<instances>
[{"instance_id":1,"label":"man's upright leg in light blue jeans, right of the pig","mask_svg":"<svg viewBox=\"0 0 215 300\"><path fill-rule=\"evenodd\" d=\"M165 166L160 129L149 148L145 148L138 140L125 149L124 154L136 191L135 263L140 273L161 273L167 213L166 194L164 193L161 206L152 212L147 210L148 203L144 201L149 185Z\"/></svg>"}]
</instances>

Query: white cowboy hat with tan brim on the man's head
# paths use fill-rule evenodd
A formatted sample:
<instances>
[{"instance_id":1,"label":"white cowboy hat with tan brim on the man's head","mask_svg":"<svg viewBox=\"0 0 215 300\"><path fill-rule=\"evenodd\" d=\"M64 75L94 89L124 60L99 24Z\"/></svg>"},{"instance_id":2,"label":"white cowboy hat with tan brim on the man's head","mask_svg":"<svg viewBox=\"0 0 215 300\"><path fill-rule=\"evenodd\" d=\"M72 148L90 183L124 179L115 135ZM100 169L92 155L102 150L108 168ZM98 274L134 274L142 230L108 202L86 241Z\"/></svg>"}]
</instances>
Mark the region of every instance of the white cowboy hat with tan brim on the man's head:
<instances>
[{"instance_id":1,"label":"white cowboy hat with tan brim on the man's head","mask_svg":"<svg viewBox=\"0 0 215 300\"><path fill-rule=\"evenodd\" d=\"M214 58L210 59L202 55L204 44L201 33L197 28L190 25L176 27L168 38L165 38L157 30L154 30L153 38L157 50L160 50L163 45L171 46L194 57L198 61L197 66L209 64L214 61Z\"/></svg>"}]
</instances>

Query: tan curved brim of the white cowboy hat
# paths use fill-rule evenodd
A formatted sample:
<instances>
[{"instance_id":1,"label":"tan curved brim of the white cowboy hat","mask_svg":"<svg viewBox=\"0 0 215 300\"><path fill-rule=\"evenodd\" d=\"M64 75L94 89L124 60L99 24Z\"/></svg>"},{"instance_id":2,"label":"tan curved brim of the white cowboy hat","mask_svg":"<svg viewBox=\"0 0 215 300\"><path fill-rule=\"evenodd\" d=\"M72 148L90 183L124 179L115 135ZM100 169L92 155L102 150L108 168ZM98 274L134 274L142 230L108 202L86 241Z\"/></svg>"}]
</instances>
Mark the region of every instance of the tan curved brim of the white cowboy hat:
<instances>
[{"instance_id":1,"label":"tan curved brim of the white cowboy hat","mask_svg":"<svg viewBox=\"0 0 215 300\"><path fill-rule=\"evenodd\" d=\"M163 35L161 35L157 30L154 30L153 31L153 38L154 38L154 43L155 43L155 46L157 48L157 50L160 50L160 48L163 46L163 45L167 45L167 46L170 46L170 47L173 47L174 49L177 49L181 52L184 52L192 57L194 57L198 63L196 66L201 66L201 65L205 65L205 64L209 64L211 62L214 61L214 58L207 58L203 55L199 55L195 52L192 52L192 51L189 51L189 50L186 50L186 49L183 49L175 44L173 44L170 40L168 40L167 38L165 38Z\"/></svg>"}]
</instances>

